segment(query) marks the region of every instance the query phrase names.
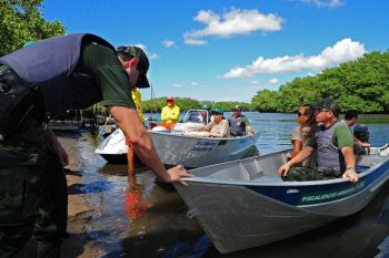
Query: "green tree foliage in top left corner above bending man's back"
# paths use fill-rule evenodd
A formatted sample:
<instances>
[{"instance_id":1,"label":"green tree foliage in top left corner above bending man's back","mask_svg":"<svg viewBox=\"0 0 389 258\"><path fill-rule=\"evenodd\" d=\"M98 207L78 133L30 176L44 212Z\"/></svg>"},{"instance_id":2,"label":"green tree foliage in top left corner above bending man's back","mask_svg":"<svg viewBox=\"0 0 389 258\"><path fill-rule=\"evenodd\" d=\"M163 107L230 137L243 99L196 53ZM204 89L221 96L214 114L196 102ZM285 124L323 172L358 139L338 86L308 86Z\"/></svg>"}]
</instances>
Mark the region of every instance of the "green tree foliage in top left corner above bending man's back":
<instances>
[{"instance_id":1,"label":"green tree foliage in top left corner above bending man's back","mask_svg":"<svg viewBox=\"0 0 389 258\"><path fill-rule=\"evenodd\" d=\"M24 42L64 34L60 21L42 18L42 0L0 0L0 56Z\"/></svg>"}]
</instances>

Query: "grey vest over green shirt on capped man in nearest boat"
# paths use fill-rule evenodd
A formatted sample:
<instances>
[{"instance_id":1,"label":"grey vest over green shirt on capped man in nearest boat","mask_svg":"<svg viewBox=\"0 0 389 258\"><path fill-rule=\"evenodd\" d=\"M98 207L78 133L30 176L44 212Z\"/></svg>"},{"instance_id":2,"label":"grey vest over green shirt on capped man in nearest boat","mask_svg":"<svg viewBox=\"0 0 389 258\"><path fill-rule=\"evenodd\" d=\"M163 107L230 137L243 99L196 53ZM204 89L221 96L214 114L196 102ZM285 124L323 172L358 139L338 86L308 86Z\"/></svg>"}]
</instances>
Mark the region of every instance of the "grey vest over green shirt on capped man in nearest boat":
<instances>
[{"instance_id":1,"label":"grey vest over green shirt on capped man in nearest boat","mask_svg":"<svg viewBox=\"0 0 389 258\"><path fill-rule=\"evenodd\" d=\"M318 169L321 172L345 172L346 169L345 157L338 146L332 143L333 132L340 125L347 126L345 121L339 121L327 130L323 126L319 126L315 133Z\"/></svg>"}]
</instances>

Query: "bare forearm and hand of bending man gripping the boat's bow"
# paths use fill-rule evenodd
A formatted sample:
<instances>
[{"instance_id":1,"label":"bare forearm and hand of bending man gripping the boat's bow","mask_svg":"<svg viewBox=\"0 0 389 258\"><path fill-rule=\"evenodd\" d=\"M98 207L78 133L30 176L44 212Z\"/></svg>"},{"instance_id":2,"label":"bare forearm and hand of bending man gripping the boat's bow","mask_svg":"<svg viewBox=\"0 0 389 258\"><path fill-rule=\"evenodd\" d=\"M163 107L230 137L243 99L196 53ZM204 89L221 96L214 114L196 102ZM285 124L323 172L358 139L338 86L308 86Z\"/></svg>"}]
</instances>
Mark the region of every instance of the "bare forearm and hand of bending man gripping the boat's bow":
<instances>
[{"instance_id":1,"label":"bare forearm and hand of bending man gripping the boat's bow","mask_svg":"<svg viewBox=\"0 0 389 258\"><path fill-rule=\"evenodd\" d=\"M181 185L187 185L181 178L192 175L188 174L181 165L172 167L168 172L164 169L151 137L144 130L136 110L127 106L109 106L109 111L128 141L131 142L134 153L147 167L164 182L178 182Z\"/></svg>"}]
</instances>

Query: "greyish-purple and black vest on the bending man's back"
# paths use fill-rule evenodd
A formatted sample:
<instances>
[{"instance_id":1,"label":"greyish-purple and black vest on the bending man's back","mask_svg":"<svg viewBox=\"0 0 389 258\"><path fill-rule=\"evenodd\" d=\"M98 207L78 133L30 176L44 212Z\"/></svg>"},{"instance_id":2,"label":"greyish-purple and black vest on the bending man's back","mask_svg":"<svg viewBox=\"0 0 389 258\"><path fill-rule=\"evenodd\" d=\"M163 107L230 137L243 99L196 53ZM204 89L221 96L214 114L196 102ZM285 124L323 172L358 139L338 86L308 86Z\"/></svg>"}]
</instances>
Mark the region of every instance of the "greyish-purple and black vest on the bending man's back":
<instances>
[{"instance_id":1,"label":"greyish-purple and black vest on the bending man's back","mask_svg":"<svg viewBox=\"0 0 389 258\"><path fill-rule=\"evenodd\" d=\"M74 72L81 45L99 43L112 51L106 40L87 33L53 37L0 58L21 80L37 85L44 112L60 114L70 109L86 109L102 100L101 91L89 74Z\"/></svg>"}]
</instances>

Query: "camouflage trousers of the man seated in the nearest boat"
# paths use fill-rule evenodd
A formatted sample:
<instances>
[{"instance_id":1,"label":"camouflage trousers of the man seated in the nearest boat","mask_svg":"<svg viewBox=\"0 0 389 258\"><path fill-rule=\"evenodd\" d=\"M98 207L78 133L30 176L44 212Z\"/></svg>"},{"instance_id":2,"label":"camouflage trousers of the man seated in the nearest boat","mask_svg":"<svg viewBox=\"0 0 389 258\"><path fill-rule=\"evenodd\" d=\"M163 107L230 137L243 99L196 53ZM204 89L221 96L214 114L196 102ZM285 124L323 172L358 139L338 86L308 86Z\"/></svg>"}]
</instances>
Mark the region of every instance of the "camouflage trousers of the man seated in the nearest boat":
<instances>
[{"instance_id":1,"label":"camouflage trousers of the man seated in the nearest boat","mask_svg":"<svg viewBox=\"0 0 389 258\"><path fill-rule=\"evenodd\" d=\"M325 174L311 167L291 167L282 180L322 180L336 178L333 175Z\"/></svg>"}]
</instances>

